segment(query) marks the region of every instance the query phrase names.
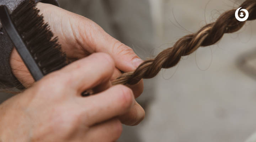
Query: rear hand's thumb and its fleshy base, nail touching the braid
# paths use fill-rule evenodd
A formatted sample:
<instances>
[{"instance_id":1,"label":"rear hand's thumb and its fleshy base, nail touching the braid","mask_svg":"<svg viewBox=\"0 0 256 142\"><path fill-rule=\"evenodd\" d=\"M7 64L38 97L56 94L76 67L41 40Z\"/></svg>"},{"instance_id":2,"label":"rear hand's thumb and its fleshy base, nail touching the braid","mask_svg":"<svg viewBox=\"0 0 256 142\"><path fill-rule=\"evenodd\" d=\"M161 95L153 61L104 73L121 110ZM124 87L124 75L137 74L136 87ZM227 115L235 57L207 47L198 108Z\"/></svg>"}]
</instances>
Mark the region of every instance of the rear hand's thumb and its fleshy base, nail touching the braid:
<instances>
[{"instance_id":1,"label":"rear hand's thumb and its fleshy base, nail touching the braid","mask_svg":"<svg viewBox=\"0 0 256 142\"><path fill-rule=\"evenodd\" d=\"M37 7L69 57L108 53L122 71L133 71L143 62L131 48L111 37L90 19L49 4L39 3Z\"/></svg>"}]
</instances>

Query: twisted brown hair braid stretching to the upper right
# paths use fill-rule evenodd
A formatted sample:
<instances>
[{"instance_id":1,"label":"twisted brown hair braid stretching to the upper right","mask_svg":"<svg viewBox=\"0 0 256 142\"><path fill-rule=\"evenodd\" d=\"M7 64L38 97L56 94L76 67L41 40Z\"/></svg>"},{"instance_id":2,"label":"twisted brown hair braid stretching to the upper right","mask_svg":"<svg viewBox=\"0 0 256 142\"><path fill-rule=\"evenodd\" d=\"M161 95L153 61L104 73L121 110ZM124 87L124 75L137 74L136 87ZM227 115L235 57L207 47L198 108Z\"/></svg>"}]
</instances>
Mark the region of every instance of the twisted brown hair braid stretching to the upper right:
<instances>
[{"instance_id":1,"label":"twisted brown hair braid stretching to the upper right","mask_svg":"<svg viewBox=\"0 0 256 142\"><path fill-rule=\"evenodd\" d=\"M256 19L256 0L246 0L240 6L249 12L247 20ZM235 9L224 12L216 22L207 24L194 34L180 38L173 47L159 53L155 59L144 61L134 72L123 73L112 84L136 84L142 78L153 78L164 68L171 68L178 64L182 56L189 55L199 47L206 47L217 43L225 33L233 33L244 26L235 18Z\"/></svg>"}]
</instances>

